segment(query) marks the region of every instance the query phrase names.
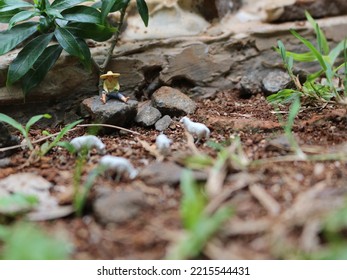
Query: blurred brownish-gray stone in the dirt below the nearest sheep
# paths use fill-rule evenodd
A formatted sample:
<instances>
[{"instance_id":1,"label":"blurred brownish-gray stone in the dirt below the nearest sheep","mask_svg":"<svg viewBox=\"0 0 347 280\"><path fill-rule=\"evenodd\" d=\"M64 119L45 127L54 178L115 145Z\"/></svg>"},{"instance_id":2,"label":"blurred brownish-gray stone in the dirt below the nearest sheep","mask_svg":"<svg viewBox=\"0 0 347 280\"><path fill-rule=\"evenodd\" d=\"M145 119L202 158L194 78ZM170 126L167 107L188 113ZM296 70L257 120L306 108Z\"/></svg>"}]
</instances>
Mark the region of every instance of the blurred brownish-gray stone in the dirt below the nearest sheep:
<instances>
[{"instance_id":1,"label":"blurred brownish-gray stone in the dirt below the nearest sheep","mask_svg":"<svg viewBox=\"0 0 347 280\"><path fill-rule=\"evenodd\" d=\"M145 206L145 196L141 191L109 191L93 202L94 214L102 224L127 222Z\"/></svg>"}]
</instances>

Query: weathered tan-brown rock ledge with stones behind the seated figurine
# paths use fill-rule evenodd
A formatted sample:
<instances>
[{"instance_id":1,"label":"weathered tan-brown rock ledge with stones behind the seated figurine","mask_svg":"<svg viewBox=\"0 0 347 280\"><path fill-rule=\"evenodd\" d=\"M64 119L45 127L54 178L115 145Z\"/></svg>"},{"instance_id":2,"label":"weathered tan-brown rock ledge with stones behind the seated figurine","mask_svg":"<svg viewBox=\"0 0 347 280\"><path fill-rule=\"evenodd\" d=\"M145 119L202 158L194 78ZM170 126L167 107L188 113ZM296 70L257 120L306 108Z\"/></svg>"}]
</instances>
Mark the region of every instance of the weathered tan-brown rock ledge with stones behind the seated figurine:
<instances>
[{"instance_id":1,"label":"weathered tan-brown rock ledge with stones behind the seated figurine","mask_svg":"<svg viewBox=\"0 0 347 280\"><path fill-rule=\"evenodd\" d=\"M121 91L134 100L128 108L119 102L110 103L114 105L112 108L103 107L97 98L97 70L85 72L78 61L66 54L44 82L24 97L19 86L5 85L7 68L17 49L0 57L0 112L21 121L35 114L50 113L53 126L81 116L126 126L132 123L130 116L142 125L154 125L163 116L183 114L177 113L181 105L168 104L174 109L167 110L155 103L153 96L163 92L206 98L218 91L237 89L235 92L247 97L276 92L286 86L289 79L272 47L281 39L288 49L298 49L288 32L290 28L305 36L312 35L303 21L305 10L320 18L319 24L332 44L346 35L347 2L342 0L148 0L147 3L149 27L143 26L135 7L130 9L126 28L107 69L121 73ZM117 18L117 14L113 16ZM93 58L101 64L109 42L90 43ZM307 67L310 65L302 65L296 71L304 75ZM185 103L185 99L180 102ZM115 115L110 116L109 110ZM130 115L120 117L119 111Z\"/></svg>"}]
</instances>

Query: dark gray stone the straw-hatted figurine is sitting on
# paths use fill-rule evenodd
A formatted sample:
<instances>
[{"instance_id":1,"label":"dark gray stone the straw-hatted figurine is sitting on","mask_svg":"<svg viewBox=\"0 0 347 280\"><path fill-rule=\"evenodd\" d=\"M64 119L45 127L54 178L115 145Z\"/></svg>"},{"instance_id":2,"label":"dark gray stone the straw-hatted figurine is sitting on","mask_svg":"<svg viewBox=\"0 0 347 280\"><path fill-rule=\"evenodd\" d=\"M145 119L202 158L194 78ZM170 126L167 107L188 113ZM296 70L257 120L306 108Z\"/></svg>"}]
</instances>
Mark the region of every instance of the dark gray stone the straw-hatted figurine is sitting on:
<instances>
[{"instance_id":1,"label":"dark gray stone the straw-hatted figurine is sitting on","mask_svg":"<svg viewBox=\"0 0 347 280\"><path fill-rule=\"evenodd\" d=\"M106 104L100 101L99 96L83 100L82 106L93 122L129 127L137 114L137 101L129 100L127 103L110 99ZM105 130L110 131L110 130Z\"/></svg>"}]
</instances>

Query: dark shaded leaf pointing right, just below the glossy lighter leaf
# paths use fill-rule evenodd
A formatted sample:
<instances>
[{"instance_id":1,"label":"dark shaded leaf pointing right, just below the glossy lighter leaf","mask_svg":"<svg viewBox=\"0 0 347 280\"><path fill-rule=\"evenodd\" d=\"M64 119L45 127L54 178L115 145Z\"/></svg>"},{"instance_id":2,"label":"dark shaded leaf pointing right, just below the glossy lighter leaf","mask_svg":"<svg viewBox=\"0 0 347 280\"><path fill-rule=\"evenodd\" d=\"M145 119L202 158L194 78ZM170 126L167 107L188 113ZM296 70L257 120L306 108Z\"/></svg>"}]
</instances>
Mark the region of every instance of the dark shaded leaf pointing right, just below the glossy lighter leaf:
<instances>
[{"instance_id":1,"label":"dark shaded leaf pointing right, just below the glossy lighter leaf","mask_svg":"<svg viewBox=\"0 0 347 280\"><path fill-rule=\"evenodd\" d=\"M103 42L112 37L117 31L114 27L107 27L101 24L95 23L69 23L65 29L69 30L77 37L84 39L93 39L98 42Z\"/></svg>"}]
</instances>

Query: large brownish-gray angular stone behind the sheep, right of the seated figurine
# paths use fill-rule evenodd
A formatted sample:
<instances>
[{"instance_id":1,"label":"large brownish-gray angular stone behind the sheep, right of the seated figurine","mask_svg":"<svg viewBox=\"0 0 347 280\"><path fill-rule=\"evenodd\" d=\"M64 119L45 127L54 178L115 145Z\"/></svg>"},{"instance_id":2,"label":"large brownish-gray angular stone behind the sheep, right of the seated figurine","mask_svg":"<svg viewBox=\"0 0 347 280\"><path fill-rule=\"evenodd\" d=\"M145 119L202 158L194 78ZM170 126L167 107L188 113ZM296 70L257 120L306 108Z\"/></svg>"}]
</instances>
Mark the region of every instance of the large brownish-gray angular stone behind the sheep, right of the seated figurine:
<instances>
[{"instance_id":1,"label":"large brownish-gray angular stone behind the sheep, right of the seated figurine","mask_svg":"<svg viewBox=\"0 0 347 280\"><path fill-rule=\"evenodd\" d=\"M181 91L171 87L161 87L152 95L152 104L163 115L182 116L193 114L195 102Z\"/></svg>"}]
</instances>

